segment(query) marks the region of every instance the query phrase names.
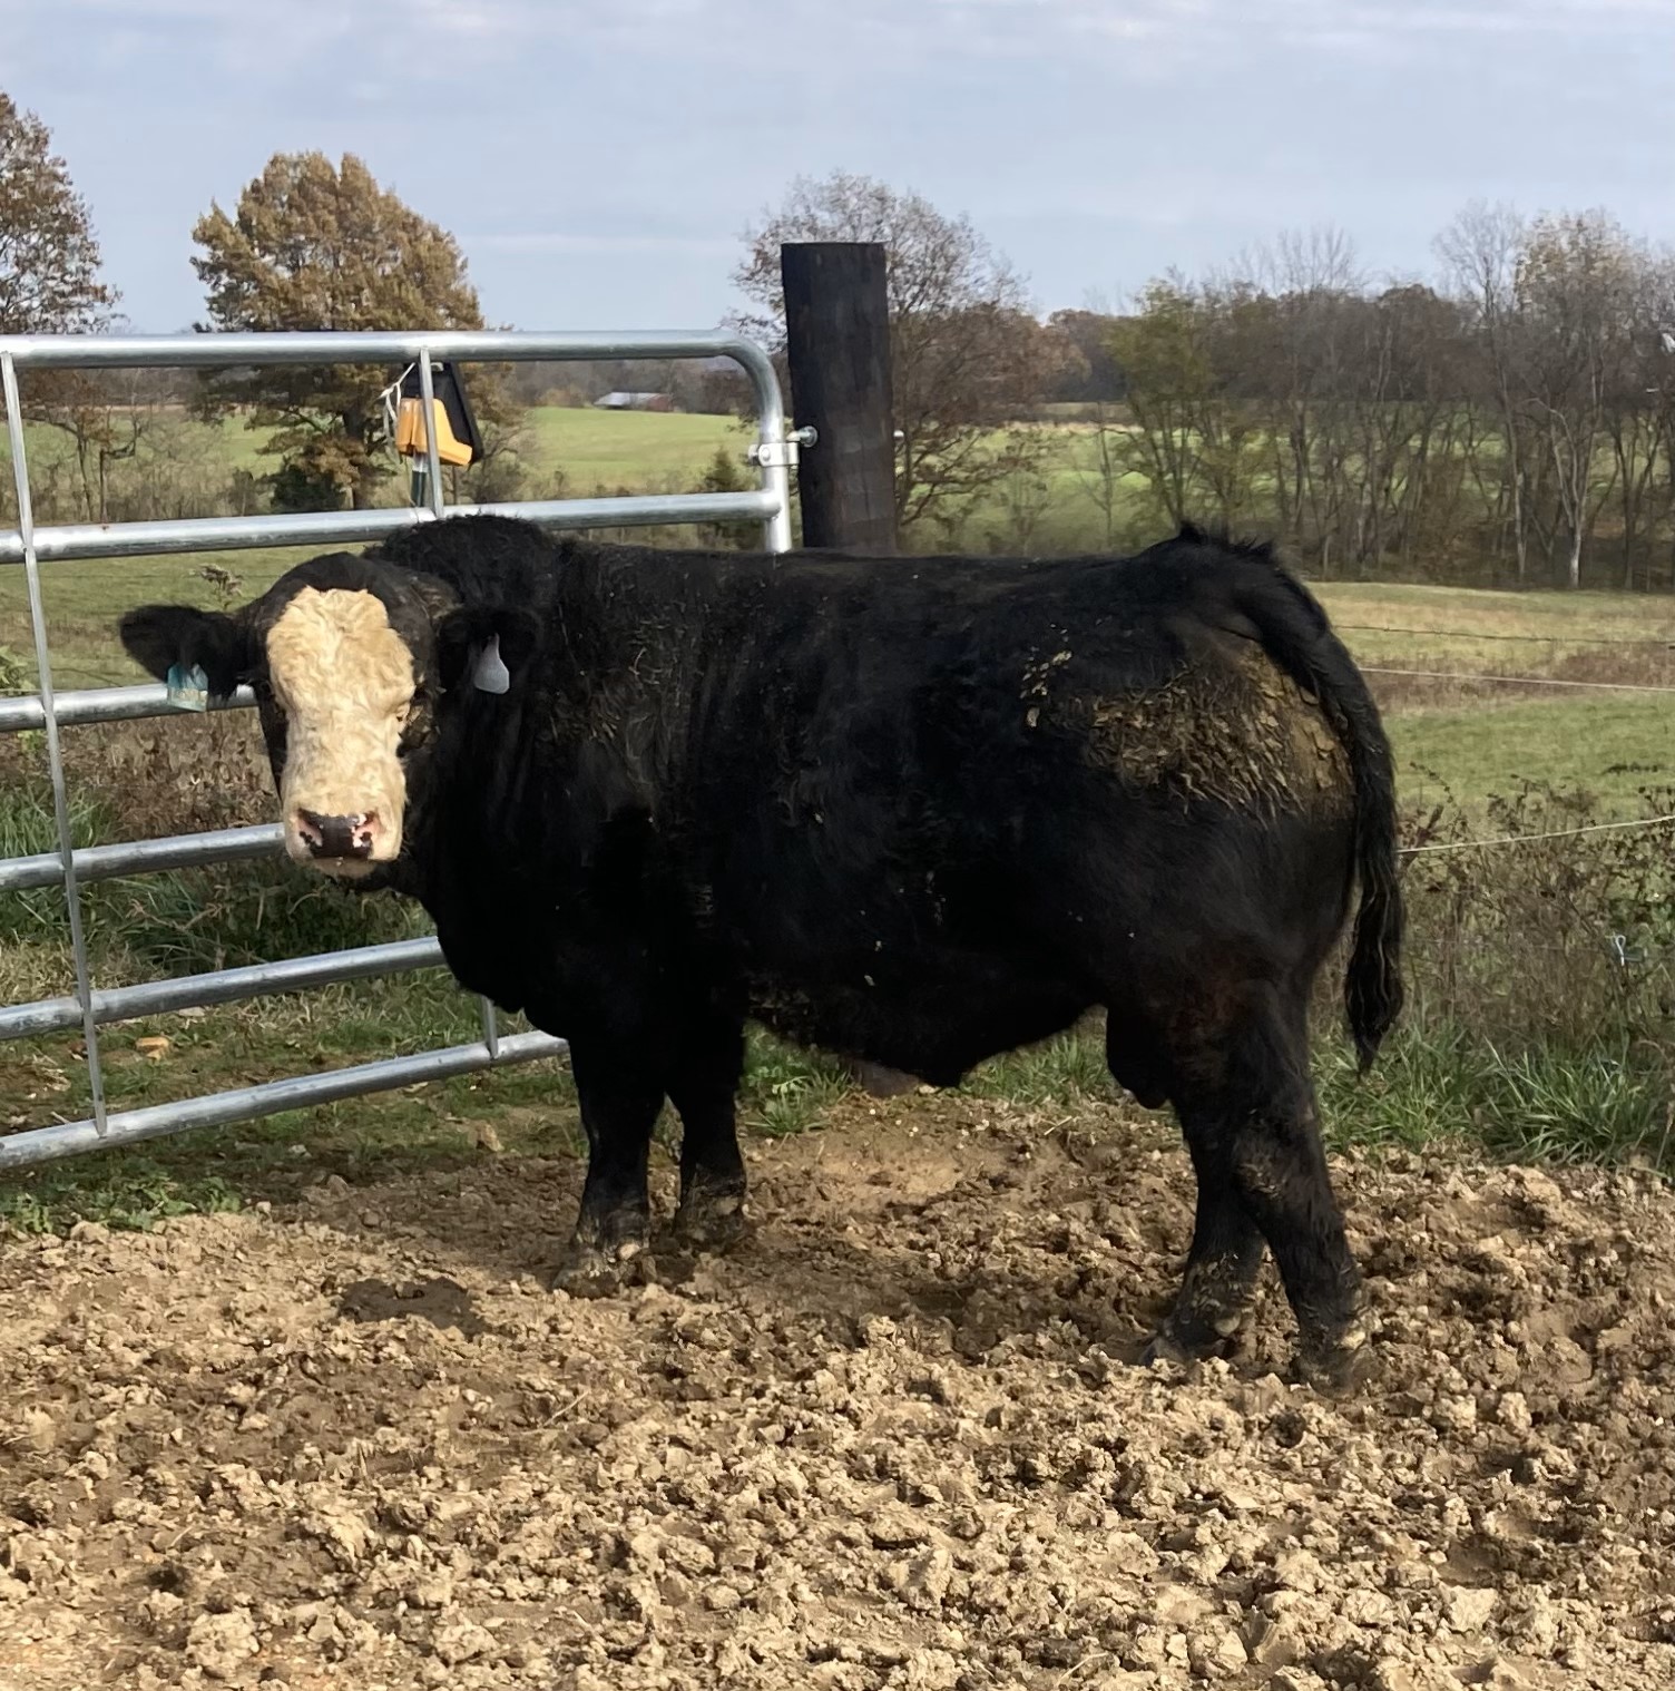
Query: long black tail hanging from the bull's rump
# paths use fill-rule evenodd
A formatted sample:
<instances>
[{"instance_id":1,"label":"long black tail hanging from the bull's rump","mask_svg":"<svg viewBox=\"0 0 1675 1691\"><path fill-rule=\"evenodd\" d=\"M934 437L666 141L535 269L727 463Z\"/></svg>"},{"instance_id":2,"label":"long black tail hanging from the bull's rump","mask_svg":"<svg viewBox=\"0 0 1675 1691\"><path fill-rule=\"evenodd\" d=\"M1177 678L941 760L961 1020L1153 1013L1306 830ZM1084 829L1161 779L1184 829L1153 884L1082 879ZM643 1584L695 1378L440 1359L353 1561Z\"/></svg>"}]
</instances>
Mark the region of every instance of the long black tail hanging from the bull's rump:
<instances>
[{"instance_id":1,"label":"long black tail hanging from the bull's rump","mask_svg":"<svg viewBox=\"0 0 1675 1691\"><path fill-rule=\"evenodd\" d=\"M1332 632L1320 602L1268 548L1237 548L1258 565L1236 600L1263 646L1322 703L1354 781L1354 862L1361 883L1344 1006L1366 1070L1401 1013L1401 883L1396 876L1396 774L1384 724L1367 683Z\"/></svg>"}]
</instances>

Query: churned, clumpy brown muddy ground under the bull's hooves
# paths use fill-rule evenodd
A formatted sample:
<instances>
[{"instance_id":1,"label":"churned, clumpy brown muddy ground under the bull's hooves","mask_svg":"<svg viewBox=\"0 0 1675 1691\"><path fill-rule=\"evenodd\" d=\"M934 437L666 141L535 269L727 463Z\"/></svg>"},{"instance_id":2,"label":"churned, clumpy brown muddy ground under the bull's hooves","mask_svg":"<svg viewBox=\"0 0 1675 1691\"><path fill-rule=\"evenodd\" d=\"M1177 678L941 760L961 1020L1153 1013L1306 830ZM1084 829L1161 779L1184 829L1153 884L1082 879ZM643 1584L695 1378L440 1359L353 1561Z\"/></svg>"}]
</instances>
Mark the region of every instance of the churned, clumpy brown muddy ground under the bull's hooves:
<instances>
[{"instance_id":1,"label":"churned, clumpy brown muddy ground under the bull's hooves","mask_svg":"<svg viewBox=\"0 0 1675 1691\"><path fill-rule=\"evenodd\" d=\"M1650 1177L1340 1165L1334 1404L1273 1292L1132 1366L1190 1182L1114 1111L752 1165L744 1248L598 1302L543 1290L565 1160L0 1243L0 1686L1675 1684Z\"/></svg>"}]
</instances>

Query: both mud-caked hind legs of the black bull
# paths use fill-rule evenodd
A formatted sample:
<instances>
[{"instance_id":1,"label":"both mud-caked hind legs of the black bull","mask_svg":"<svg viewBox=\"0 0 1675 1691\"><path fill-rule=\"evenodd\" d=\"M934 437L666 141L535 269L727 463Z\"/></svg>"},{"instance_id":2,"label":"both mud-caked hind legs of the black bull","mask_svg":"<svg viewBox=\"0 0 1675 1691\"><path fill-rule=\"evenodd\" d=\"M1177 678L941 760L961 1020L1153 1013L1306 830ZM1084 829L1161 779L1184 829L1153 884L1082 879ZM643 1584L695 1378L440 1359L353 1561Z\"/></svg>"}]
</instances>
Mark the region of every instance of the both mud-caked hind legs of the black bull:
<instances>
[{"instance_id":1,"label":"both mud-caked hind legs of the black bull","mask_svg":"<svg viewBox=\"0 0 1675 1691\"><path fill-rule=\"evenodd\" d=\"M1212 1324L1217 1312L1230 1317L1227 1289L1247 1297L1259 1233L1296 1316L1300 1373L1347 1388L1367 1363L1361 1275L1320 1143L1301 994L1252 986L1220 1037L1197 1032L1180 1065L1176 1104L1198 1168L1205 1243L1200 1251L1193 1238L1176 1311L1188 1333L1202 1333L1198 1309L1212 1312Z\"/></svg>"}]
</instances>

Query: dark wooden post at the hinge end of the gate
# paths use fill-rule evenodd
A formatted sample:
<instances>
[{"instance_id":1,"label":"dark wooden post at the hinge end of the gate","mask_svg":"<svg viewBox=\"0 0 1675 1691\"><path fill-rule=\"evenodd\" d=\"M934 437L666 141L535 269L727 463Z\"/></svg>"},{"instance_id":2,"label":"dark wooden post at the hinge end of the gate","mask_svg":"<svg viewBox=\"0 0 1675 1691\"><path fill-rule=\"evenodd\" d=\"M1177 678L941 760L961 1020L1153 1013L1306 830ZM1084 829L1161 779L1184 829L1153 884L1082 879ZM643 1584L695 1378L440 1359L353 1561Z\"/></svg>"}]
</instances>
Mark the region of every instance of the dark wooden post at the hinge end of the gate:
<instances>
[{"instance_id":1,"label":"dark wooden post at the hinge end of the gate","mask_svg":"<svg viewBox=\"0 0 1675 1691\"><path fill-rule=\"evenodd\" d=\"M891 411L884 249L799 240L779 249L791 414L820 438L796 467L803 545L896 550L896 433Z\"/></svg>"}]
</instances>

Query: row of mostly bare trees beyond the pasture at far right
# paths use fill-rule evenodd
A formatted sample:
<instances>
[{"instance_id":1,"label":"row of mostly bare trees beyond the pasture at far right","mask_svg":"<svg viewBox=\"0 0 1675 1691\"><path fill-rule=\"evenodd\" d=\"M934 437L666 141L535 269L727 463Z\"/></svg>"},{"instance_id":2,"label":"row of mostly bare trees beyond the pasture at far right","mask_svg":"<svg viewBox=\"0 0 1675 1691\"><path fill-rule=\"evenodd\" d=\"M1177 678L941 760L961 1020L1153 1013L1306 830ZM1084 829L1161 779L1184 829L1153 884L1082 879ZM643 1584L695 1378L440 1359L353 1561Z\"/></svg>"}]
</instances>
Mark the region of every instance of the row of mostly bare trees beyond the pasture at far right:
<instances>
[{"instance_id":1,"label":"row of mostly bare trees beyond the pasture at far right","mask_svg":"<svg viewBox=\"0 0 1675 1691\"><path fill-rule=\"evenodd\" d=\"M1374 286L1317 235L1151 284L1112 325L1121 465L1323 575L1675 587L1675 259L1486 205L1437 257Z\"/></svg>"}]
</instances>

